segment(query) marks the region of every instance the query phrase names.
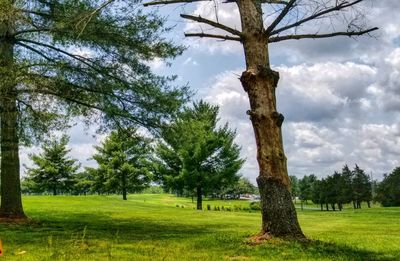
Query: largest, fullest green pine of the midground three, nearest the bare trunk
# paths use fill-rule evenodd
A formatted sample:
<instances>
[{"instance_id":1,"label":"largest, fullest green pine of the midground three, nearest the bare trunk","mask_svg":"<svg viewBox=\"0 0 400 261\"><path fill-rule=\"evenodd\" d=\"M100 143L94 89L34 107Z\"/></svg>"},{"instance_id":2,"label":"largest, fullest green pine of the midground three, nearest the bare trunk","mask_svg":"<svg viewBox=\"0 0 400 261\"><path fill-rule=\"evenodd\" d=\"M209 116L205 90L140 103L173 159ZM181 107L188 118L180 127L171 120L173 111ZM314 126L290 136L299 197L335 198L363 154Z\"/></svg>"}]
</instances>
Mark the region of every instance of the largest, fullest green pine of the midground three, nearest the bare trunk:
<instances>
[{"instance_id":1,"label":"largest, fullest green pine of the midground three, nearest the bare trunk","mask_svg":"<svg viewBox=\"0 0 400 261\"><path fill-rule=\"evenodd\" d=\"M217 127L218 110L203 101L186 107L162 129L156 149L158 179L166 188L195 191L197 209L203 195L236 182L244 162L236 133L227 124Z\"/></svg>"}]
</instances>

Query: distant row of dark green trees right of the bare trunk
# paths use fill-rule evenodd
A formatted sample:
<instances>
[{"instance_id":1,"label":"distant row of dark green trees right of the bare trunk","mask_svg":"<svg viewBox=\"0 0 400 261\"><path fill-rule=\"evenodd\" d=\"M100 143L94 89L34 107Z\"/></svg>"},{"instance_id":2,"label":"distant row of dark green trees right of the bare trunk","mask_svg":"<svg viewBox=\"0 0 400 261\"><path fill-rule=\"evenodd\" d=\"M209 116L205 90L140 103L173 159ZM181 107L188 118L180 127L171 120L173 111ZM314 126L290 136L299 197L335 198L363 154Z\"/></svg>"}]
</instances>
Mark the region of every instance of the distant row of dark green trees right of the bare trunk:
<instances>
[{"instance_id":1,"label":"distant row of dark green trees right of the bare trunk","mask_svg":"<svg viewBox=\"0 0 400 261\"><path fill-rule=\"evenodd\" d=\"M380 183L372 181L358 165L353 170L345 165L341 172L318 179L315 175L306 175L301 179L290 176L292 196L303 203L312 201L320 205L321 210L342 210L344 204L352 204L360 209L361 203L379 202L382 206L400 206L400 167L384 175Z\"/></svg>"}]
</instances>

